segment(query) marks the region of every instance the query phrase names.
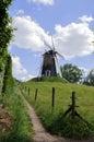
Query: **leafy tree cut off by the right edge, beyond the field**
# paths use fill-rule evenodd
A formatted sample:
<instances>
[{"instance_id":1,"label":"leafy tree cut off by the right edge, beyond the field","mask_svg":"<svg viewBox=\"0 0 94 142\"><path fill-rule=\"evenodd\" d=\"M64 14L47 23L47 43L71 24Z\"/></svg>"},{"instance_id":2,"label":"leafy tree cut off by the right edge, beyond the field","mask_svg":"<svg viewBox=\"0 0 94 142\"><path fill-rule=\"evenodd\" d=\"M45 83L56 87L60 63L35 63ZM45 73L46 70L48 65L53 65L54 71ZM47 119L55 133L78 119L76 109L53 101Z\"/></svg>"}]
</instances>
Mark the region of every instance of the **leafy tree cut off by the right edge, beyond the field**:
<instances>
[{"instance_id":1,"label":"leafy tree cut off by the right edge, beyond the field","mask_svg":"<svg viewBox=\"0 0 94 142\"><path fill-rule=\"evenodd\" d=\"M83 84L85 85L94 85L94 69L90 71Z\"/></svg>"}]
</instances>

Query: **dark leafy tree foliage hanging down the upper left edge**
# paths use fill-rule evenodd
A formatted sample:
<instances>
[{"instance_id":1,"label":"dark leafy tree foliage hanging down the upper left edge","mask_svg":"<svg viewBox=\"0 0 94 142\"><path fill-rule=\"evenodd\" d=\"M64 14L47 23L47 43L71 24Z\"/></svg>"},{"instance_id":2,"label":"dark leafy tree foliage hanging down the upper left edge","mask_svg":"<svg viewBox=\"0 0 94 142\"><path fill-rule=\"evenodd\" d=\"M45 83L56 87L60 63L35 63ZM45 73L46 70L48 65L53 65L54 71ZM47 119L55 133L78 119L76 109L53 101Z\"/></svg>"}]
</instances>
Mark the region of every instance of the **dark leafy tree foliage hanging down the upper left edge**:
<instances>
[{"instance_id":1,"label":"dark leafy tree foliage hanging down the upper left edge","mask_svg":"<svg viewBox=\"0 0 94 142\"><path fill-rule=\"evenodd\" d=\"M8 55L8 45L12 38L13 28L9 16L9 5L13 0L0 0L0 71Z\"/></svg>"}]
</instances>

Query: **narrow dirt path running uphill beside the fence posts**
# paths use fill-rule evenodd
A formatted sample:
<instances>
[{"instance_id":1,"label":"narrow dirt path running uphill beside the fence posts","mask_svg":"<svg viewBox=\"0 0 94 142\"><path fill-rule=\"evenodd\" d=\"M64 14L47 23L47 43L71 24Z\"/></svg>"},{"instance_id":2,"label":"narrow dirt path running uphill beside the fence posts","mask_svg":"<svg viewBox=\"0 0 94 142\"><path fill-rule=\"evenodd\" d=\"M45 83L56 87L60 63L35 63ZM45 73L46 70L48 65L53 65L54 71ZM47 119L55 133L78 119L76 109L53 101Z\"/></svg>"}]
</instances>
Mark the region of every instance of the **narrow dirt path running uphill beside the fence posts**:
<instances>
[{"instance_id":1,"label":"narrow dirt path running uphill beside the fence posts","mask_svg":"<svg viewBox=\"0 0 94 142\"><path fill-rule=\"evenodd\" d=\"M28 108L28 115L32 119L33 128L35 131L33 141L34 142L94 142L94 140L84 140L84 141L79 141L79 140L68 140L63 138L58 138L55 135L50 135L46 130L44 129L39 118L37 117L34 108L27 103L27 100L22 96L24 103L26 104Z\"/></svg>"}]
</instances>

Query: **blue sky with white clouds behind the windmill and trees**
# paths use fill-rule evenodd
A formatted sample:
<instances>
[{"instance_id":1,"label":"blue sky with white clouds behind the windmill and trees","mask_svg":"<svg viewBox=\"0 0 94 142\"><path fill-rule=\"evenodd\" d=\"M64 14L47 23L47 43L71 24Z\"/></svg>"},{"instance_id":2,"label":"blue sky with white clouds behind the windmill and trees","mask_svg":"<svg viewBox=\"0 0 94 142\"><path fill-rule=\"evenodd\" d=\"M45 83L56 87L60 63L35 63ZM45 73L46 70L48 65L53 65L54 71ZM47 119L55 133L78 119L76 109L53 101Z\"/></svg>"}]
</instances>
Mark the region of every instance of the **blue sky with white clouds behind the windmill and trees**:
<instances>
[{"instance_id":1,"label":"blue sky with white clouds behind the windmill and trees","mask_svg":"<svg viewBox=\"0 0 94 142\"><path fill-rule=\"evenodd\" d=\"M94 68L94 0L14 0L9 13L15 28L9 46L13 76L37 76L43 54L49 48L64 57L59 64L72 63L85 72Z\"/></svg>"}]
</instances>

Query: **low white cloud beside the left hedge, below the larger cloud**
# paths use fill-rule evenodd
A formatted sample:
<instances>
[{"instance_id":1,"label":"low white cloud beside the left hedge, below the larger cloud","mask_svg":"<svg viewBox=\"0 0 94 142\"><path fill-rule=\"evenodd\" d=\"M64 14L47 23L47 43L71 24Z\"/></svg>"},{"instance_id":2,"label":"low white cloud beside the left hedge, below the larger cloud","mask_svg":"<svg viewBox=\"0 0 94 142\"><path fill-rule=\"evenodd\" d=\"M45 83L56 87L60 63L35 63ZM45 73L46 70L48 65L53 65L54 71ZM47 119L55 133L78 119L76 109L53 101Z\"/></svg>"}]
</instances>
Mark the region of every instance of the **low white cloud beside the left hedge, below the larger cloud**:
<instances>
[{"instance_id":1,"label":"low white cloud beside the left hedge, below the larger cloud","mask_svg":"<svg viewBox=\"0 0 94 142\"><path fill-rule=\"evenodd\" d=\"M22 66L20 57L12 56L12 72L13 76L24 75L27 73L27 70Z\"/></svg>"}]
</instances>

